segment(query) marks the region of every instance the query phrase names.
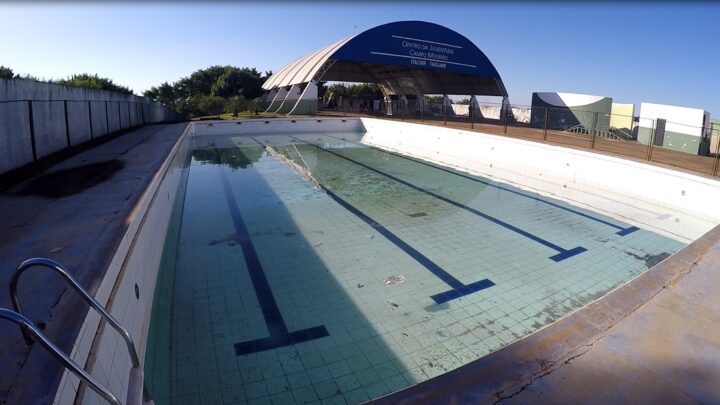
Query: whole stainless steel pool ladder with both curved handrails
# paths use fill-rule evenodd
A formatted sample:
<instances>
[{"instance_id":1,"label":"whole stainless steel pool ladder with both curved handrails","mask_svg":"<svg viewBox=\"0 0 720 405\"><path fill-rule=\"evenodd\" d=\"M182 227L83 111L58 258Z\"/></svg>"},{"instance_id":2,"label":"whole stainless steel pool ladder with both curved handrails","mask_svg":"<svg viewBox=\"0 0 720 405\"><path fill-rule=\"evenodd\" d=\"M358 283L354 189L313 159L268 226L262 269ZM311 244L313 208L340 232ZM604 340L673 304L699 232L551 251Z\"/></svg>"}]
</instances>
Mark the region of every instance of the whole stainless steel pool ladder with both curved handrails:
<instances>
[{"instance_id":1,"label":"whole stainless steel pool ladder with both curved handrails","mask_svg":"<svg viewBox=\"0 0 720 405\"><path fill-rule=\"evenodd\" d=\"M32 267L47 267L60 274L60 276L62 276L65 281L70 284L70 286L73 287L88 304L90 304L91 307L100 313L102 318L104 318L116 331L118 331L118 333L120 333L120 336L122 336L123 340L125 340L128 352L130 353L130 360L133 365L133 369L130 372L130 383L133 382L134 378L139 378L139 382L142 383L143 378L142 369L140 368L140 359L138 358L137 350L135 350L135 343L133 343L130 333L128 333L128 331L123 328L120 323L112 315L110 315L110 313L102 305L100 305L99 302L97 302L95 298L90 296L90 294L88 294L88 292L80 284L78 284L72 276L70 276L70 273L63 265L56 261L44 258L33 258L25 260L18 265L12 275L12 278L10 279L10 299L12 300L14 311L6 308L0 308L0 318L20 325L26 344L30 345L33 341L37 341L40 345L47 349L50 354L55 356L55 358L57 358L58 361L65 366L65 368L72 371L81 380L87 383L87 385L90 386L93 391L97 392L98 395L111 404L120 405L120 400L118 400L117 397L107 389L107 387L102 386L93 376L88 374L87 371L75 363L75 361L73 361L67 353L63 352L62 349L60 349L44 333L42 333L32 321L22 315L22 307L20 306L20 300L17 294L18 279L25 270ZM144 384L142 385L144 386ZM142 402L142 396L149 397L146 391L144 391L143 394L135 395L133 397L134 401L132 402ZM130 397L131 395L129 391L128 398L130 399ZM131 401L129 400L128 402Z\"/></svg>"}]
</instances>

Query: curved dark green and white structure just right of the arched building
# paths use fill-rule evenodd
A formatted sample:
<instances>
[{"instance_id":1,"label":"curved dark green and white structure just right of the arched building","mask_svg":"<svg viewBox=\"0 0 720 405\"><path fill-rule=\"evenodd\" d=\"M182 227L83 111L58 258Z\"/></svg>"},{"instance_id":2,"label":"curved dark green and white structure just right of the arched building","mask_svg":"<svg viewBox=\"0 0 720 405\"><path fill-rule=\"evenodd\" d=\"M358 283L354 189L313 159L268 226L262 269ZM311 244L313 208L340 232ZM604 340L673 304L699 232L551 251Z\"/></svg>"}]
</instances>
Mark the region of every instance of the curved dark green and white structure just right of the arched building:
<instances>
[{"instance_id":1,"label":"curved dark green and white structure just right of the arched building","mask_svg":"<svg viewBox=\"0 0 720 405\"><path fill-rule=\"evenodd\" d=\"M612 98L575 93L537 92L532 96L530 122L559 131L610 131Z\"/></svg>"}]
</instances>

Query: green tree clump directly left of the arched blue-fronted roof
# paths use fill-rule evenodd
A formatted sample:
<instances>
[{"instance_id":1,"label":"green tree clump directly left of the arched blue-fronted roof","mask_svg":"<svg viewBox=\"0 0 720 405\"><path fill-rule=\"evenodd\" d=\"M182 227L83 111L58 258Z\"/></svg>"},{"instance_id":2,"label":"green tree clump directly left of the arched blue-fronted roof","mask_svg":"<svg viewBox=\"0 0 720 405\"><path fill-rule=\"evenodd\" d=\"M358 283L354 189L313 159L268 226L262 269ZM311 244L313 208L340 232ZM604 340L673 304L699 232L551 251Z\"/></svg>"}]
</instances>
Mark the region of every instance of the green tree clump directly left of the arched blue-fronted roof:
<instances>
[{"instance_id":1,"label":"green tree clump directly left of the arched blue-fronted roof","mask_svg":"<svg viewBox=\"0 0 720 405\"><path fill-rule=\"evenodd\" d=\"M246 108L246 100L263 94L262 84L270 75L272 72L262 75L255 68L210 66L173 84L151 87L143 94L184 115L217 115L218 109L235 114Z\"/></svg>"}]
</instances>

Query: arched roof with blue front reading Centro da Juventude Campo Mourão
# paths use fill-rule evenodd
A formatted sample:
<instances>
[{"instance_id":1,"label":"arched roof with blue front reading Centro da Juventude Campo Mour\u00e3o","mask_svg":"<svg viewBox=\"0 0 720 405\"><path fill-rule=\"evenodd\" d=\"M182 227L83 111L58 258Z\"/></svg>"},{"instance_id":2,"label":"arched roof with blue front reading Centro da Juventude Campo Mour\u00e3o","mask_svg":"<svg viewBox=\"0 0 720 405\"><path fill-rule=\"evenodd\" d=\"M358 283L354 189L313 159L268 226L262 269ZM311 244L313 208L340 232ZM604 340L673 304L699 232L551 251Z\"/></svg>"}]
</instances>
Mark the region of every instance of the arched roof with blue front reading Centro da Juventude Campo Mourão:
<instances>
[{"instance_id":1,"label":"arched roof with blue front reading Centro da Juventude Campo Mour\u00e3o","mask_svg":"<svg viewBox=\"0 0 720 405\"><path fill-rule=\"evenodd\" d=\"M403 94L507 96L497 70L470 40L441 25L399 21L297 59L266 90L311 81L378 83Z\"/></svg>"}]
</instances>

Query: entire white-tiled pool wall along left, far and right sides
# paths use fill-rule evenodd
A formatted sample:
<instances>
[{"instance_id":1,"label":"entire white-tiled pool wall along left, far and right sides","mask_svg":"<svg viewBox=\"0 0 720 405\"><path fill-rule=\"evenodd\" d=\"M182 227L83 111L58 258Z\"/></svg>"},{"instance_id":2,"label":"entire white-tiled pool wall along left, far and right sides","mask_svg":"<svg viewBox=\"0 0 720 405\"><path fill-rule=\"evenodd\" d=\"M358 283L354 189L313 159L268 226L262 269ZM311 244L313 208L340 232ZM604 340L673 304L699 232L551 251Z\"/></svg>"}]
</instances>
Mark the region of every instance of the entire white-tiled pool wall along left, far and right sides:
<instances>
[{"instance_id":1,"label":"entire white-tiled pool wall along left, far and right sides","mask_svg":"<svg viewBox=\"0 0 720 405\"><path fill-rule=\"evenodd\" d=\"M720 182L569 148L371 118L196 122L185 129L130 215L128 231L96 294L98 301L106 304L130 331L141 363L145 359L165 231L185 171L190 137L364 131L367 132L363 142L370 145L579 202L641 226L651 225L659 230L674 227L676 236L688 241L720 222L713 211L713 202L720 201ZM644 208L636 209L636 206ZM668 216L669 211L677 212L678 216L689 213L697 217L701 226L678 228L675 222L678 217ZM71 356L125 401L132 368L130 357L119 335L101 325L94 311L86 316ZM104 403L92 390L78 392L78 388L78 378L65 371L54 403Z\"/></svg>"}]
</instances>

